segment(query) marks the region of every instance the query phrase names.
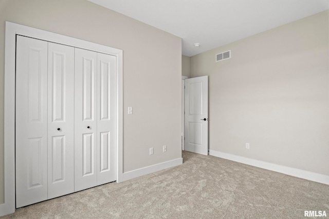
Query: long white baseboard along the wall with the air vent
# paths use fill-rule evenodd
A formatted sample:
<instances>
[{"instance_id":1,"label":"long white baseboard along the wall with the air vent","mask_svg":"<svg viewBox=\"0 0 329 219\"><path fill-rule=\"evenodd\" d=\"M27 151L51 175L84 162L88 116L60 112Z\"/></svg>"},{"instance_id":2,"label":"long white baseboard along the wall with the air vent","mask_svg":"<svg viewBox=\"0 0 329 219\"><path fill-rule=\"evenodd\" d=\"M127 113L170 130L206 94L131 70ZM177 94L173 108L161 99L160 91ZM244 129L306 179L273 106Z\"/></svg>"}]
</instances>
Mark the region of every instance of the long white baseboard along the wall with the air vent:
<instances>
[{"instance_id":1,"label":"long white baseboard along the wall with the air vent","mask_svg":"<svg viewBox=\"0 0 329 219\"><path fill-rule=\"evenodd\" d=\"M229 153L223 153L219 151L209 150L209 155L221 157L230 161L235 161L243 164L248 164L254 167L259 167L279 173L284 173L291 176L296 176L299 178L304 178L305 180L310 180L318 183L323 183L329 185L329 175L319 174L315 172L310 172L306 170L296 169L292 167L281 166L278 164L272 164L264 161L258 161L251 158L237 156Z\"/></svg>"}]
</instances>

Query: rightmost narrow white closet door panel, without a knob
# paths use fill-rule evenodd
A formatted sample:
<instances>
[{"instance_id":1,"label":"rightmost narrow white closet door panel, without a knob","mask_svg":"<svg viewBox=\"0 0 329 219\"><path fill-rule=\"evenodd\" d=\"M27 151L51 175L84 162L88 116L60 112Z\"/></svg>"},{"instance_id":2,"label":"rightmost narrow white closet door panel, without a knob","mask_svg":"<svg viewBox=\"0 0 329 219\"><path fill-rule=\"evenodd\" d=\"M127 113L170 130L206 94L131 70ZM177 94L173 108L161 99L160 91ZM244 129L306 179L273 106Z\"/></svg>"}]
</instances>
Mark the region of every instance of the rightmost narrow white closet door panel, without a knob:
<instances>
[{"instance_id":1,"label":"rightmost narrow white closet door panel, without a knob","mask_svg":"<svg viewBox=\"0 0 329 219\"><path fill-rule=\"evenodd\" d=\"M97 53L97 185L116 180L116 56Z\"/></svg>"}]
</instances>

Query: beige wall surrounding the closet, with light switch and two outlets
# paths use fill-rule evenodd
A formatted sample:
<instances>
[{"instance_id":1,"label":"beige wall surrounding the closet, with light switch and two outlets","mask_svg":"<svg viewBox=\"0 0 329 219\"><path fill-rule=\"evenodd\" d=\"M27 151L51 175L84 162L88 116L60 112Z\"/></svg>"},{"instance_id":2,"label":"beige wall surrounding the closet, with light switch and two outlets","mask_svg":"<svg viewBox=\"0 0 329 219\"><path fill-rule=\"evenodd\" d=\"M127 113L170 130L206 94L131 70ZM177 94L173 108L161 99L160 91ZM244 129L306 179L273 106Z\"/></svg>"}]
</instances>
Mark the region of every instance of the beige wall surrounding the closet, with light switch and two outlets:
<instances>
[{"instance_id":1,"label":"beige wall surrounding the closet, with light switch and two outlets","mask_svg":"<svg viewBox=\"0 0 329 219\"><path fill-rule=\"evenodd\" d=\"M181 157L181 39L85 0L0 1L0 204L5 21L123 50L124 172ZM134 114L127 115L127 107ZM167 152L162 152L167 145ZM149 148L154 147L154 155Z\"/></svg>"}]
</instances>

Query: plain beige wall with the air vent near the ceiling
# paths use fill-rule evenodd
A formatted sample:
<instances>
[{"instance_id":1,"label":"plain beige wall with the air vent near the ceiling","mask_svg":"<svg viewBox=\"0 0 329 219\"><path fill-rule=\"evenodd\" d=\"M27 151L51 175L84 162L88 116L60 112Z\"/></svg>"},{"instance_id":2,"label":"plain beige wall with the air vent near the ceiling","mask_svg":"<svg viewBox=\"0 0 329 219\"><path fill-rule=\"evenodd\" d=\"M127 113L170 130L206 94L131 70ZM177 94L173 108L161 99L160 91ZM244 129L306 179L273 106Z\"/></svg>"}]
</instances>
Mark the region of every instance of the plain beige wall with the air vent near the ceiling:
<instances>
[{"instance_id":1,"label":"plain beige wall with the air vent near the ceiling","mask_svg":"<svg viewBox=\"0 0 329 219\"><path fill-rule=\"evenodd\" d=\"M209 75L210 150L329 175L328 26L324 11L191 57L190 76Z\"/></svg>"}]
</instances>

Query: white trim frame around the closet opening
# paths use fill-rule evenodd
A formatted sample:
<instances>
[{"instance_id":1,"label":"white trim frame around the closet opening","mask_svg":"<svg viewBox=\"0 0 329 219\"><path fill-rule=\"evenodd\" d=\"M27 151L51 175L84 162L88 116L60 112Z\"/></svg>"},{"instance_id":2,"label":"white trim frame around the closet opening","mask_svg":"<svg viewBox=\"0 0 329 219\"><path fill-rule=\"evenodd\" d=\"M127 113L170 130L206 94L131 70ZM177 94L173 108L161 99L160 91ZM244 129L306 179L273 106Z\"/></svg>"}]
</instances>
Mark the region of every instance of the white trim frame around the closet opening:
<instances>
[{"instance_id":1,"label":"white trim frame around the closet opening","mask_svg":"<svg viewBox=\"0 0 329 219\"><path fill-rule=\"evenodd\" d=\"M57 33L6 22L5 36L5 106L4 106L4 172L5 203L0 216L15 212L15 53L16 35L41 39L81 49L117 56L117 183L123 181L123 51Z\"/></svg>"}]
</instances>

